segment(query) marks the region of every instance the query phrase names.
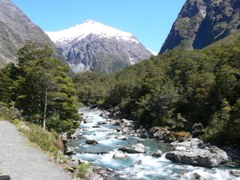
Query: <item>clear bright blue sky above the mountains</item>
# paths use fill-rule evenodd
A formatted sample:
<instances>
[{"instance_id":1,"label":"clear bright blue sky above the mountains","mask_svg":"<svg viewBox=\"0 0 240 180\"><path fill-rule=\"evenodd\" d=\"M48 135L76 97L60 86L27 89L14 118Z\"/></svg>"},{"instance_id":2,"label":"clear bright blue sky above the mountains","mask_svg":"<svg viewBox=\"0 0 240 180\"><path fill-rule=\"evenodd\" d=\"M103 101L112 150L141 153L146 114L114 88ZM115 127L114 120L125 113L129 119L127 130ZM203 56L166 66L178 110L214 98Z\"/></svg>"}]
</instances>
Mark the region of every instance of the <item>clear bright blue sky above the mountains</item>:
<instances>
[{"instance_id":1,"label":"clear bright blue sky above the mountains","mask_svg":"<svg viewBox=\"0 0 240 180\"><path fill-rule=\"evenodd\" d=\"M158 52L185 0L12 0L45 31L91 19L132 33Z\"/></svg>"}]
</instances>

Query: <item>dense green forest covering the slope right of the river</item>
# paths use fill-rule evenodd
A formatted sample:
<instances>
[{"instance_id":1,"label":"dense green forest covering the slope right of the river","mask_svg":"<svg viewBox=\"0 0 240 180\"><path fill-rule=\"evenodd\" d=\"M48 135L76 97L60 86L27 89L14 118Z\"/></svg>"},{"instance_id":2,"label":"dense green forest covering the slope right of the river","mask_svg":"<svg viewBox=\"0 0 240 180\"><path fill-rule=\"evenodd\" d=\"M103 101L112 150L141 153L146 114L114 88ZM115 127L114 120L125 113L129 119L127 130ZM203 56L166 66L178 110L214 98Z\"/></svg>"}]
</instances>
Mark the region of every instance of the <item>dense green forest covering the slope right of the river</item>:
<instances>
[{"instance_id":1,"label":"dense green forest covering the slope right of the river","mask_svg":"<svg viewBox=\"0 0 240 180\"><path fill-rule=\"evenodd\" d=\"M239 146L240 38L227 38L231 43L169 51L111 76L78 74L77 95L147 128L191 131L202 123L206 140Z\"/></svg>"}]
</instances>

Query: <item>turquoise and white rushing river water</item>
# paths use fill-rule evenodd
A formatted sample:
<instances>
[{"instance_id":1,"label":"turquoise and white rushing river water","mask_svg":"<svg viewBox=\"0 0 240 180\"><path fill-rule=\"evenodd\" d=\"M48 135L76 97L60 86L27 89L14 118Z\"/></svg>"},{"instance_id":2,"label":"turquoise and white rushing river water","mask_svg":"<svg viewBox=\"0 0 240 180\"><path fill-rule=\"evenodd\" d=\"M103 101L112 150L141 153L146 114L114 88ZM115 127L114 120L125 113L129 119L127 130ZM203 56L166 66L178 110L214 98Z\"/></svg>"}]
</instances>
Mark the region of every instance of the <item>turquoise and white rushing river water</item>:
<instances>
[{"instance_id":1,"label":"turquoise and white rushing river water","mask_svg":"<svg viewBox=\"0 0 240 180\"><path fill-rule=\"evenodd\" d=\"M102 168L111 168L115 171L115 176L111 179L153 179L153 180L185 180L191 179L197 173L209 180L232 180L237 179L231 176L229 168L203 168L190 165L174 164L165 158L163 154L160 158L154 158L150 154L161 150L163 153L170 151L172 147L167 143L160 143L154 139L141 139L138 137L127 136L127 140L119 140L115 137L122 136L116 129L119 126L104 124L107 120L100 116L101 111L97 109L82 108L79 113L83 118L90 121L81 123L78 131L83 136L72 140L69 145L75 147L77 156L83 160L91 162ZM98 124L101 124L98 126ZM96 145L85 143L87 139L94 139ZM145 154L127 154L127 159L114 159L113 155L122 146L131 147L133 144L141 142L145 146ZM136 163L141 162L141 163Z\"/></svg>"}]
</instances>

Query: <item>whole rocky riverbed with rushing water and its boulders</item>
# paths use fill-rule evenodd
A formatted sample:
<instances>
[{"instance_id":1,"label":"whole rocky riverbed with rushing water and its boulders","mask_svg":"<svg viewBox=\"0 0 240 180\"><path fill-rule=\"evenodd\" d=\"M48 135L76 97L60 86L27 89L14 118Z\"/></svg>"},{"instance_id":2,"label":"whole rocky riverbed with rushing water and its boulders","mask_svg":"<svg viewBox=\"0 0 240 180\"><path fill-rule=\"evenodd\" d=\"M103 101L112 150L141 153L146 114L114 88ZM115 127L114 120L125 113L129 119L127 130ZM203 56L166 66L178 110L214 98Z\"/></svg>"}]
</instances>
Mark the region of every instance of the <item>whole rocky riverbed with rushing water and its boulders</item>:
<instances>
[{"instance_id":1,"label":"whole rocky riverbed with rushing water and its boulders","mask_svg":"<svg viewBox=\"0 0 240 180\"><path fill-rule=\"evenodd\" d=\"M76 163L92 163L99 179L240 179L240 168L227 165L225 151L189 133L134 129L133 121L111 119L99 109L79 113L83 122L68 153Z\"/></svg>"}]
</instances>

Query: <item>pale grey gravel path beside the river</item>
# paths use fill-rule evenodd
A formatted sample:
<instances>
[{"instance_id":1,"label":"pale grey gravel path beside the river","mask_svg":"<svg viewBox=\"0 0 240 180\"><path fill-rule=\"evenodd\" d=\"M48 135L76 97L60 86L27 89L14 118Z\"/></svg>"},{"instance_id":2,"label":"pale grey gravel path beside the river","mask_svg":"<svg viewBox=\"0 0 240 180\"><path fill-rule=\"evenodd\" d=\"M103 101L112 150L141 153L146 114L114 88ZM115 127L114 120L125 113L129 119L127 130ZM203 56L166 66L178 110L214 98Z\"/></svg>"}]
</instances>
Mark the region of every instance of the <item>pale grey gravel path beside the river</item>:
<instances>
[{"instance_id":1,"label":"pale grey gravel path beside the river","mask_svg":"<svg viewBox=\"0 0 240 180\"><path fill-rule=\"evenodd\" d=\"M0 121L0 176L11 180L70 180L66 172L27 140L8 121Z\"/></svg>"}]
</instances>

